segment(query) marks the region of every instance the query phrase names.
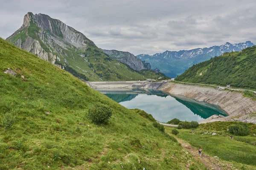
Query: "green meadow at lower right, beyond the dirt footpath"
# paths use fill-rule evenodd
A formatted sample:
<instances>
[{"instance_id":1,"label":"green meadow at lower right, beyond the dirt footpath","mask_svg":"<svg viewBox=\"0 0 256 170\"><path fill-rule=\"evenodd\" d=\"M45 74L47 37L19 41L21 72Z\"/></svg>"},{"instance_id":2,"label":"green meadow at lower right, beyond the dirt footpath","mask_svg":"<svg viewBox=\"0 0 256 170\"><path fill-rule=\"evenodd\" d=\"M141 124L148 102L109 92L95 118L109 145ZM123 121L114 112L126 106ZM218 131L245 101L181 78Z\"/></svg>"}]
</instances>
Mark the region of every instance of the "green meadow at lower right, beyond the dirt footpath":
<instances>
[{"instance_id":1,"label":"green meadow at lower right, beyond the dirt footpath","mask_svg":"<svg viewBox=\"0 0 256 170\"><path fill-rule=\"evenodd\" d=\"M228 126L238 122L213 122L200 124L198 128L192 130L178 130L178 138L188 141L192 146L201 147L203 153L209 156L218 156L221 160L231 161L235 169L256 170L256 142L253 133L256 133L256 125L250 124L250 135L235 136L227 132ZM171 133L171 128L166 128L166 132ZM217 135L202 133L217 133ZM228 137L233 136L233 139Z\"/></svg>"}]
</instances>

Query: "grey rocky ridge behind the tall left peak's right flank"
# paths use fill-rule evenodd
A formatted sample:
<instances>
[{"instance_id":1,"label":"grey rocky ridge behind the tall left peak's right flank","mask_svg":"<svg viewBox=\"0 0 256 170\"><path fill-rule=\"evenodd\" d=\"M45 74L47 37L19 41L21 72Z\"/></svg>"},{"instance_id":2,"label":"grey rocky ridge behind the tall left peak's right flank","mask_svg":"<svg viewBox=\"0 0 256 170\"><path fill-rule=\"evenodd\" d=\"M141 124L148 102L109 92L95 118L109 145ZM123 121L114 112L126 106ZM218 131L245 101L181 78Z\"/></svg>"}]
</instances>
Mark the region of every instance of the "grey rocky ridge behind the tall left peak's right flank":
<instances>
[{"instance_id":1,"label":"grey rocky ridge behind the tall left peak's right flank","mask_svg":"<svg viewBox=\"0 0 256 170\"><path fill-rule=\"evenodd\" d=\"M151 70L150 63L141 61L139 58L137 58L135 55L131 54L130 52L122 52L114 49L112 50L101 49L101 50L105 52L107 55L109 55L111 58L127 64L134 70L137 70L137 71L145 70L145 69Z\"/></svg>"}]
</instances>

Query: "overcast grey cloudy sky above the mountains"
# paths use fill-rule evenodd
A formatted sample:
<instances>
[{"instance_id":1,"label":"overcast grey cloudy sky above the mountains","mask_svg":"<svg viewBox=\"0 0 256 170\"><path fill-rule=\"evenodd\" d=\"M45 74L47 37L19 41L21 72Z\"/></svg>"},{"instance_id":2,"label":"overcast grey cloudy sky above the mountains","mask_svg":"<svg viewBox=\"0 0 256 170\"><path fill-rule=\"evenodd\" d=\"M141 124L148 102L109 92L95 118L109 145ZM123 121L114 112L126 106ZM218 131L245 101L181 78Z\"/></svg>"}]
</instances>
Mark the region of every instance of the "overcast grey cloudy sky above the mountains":
<instances>
[{"instance_id":1,"label":"overcast grey cloudy sky above the mountains","mask_svg":"<svg viewBox=\"0 0 256 170\"><path fill-rule=\"evenodd\" d=\"M48 14L102 49L154 54L256 43L256 0L0 0L0 37L27 12Z\"/></svg>"}]
</instances>

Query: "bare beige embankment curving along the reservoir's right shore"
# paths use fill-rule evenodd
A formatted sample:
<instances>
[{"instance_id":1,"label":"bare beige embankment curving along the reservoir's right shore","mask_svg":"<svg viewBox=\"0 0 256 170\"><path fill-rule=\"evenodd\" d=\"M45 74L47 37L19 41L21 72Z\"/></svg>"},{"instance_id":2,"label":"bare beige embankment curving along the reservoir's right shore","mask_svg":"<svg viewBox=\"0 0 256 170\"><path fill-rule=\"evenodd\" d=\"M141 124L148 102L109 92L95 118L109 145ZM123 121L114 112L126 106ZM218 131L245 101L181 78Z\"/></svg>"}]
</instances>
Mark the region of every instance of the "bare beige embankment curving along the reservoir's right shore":
<instances>
[{"instance_id":1,"label":"bare beige embankment curving along the reservoir's right shore","mask_svg":"<svg viewBox=\"0 0 256 170\"><path fill-rule=\"evenodd\" d=\"M161 86L159 90L168 92L171 95L182 95L197 101L206 101L209 104L216 104L229 115L225 118L211 116L201 123L229 120L256 123L255 114L250 114L256 112L256 101L251 98L244 97L239 92L230 92L218 88L175 83L166 83Z\"/></svg>"}]
</instances>

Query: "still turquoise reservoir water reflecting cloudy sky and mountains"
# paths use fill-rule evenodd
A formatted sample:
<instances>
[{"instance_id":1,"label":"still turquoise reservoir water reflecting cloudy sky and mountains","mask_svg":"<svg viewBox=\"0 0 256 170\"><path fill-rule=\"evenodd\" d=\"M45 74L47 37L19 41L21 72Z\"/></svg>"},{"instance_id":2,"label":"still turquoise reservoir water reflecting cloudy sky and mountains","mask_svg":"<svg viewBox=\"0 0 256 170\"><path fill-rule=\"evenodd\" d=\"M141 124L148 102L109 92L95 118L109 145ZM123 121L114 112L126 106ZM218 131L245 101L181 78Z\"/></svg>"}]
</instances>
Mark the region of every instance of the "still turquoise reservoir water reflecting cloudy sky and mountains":
<instances>
[{"instance_id":1,"label":"still turquoise reservoir water reflecting cloudy sky and mountains","mask_svg":"<svg viewBox=\"0 0 256 170\"><path fill-rule=\"evenodd\" d=\"M198 102L183 96L171 96L157 90L98 89L98 91L128 109L142 109L160 122L167 122L173 118L200 122L211 115L227 116L227 113L217 105Z\"/></svg>"}]
</instances>

